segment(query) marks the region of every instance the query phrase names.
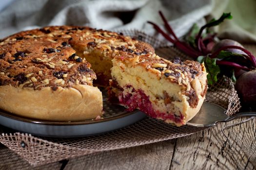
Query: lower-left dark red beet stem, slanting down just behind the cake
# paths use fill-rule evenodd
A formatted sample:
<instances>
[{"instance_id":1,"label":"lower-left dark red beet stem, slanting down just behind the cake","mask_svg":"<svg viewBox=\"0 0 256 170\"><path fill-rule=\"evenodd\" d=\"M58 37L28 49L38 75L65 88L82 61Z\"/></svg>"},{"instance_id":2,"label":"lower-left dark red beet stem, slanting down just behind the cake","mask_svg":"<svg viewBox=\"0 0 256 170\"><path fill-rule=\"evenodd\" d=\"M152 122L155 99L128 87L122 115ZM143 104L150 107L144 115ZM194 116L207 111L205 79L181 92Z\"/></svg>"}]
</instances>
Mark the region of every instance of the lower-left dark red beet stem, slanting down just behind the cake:
<instances>
[{"instance_id":1,"label":"lower-left dark red beet stem, slanting down just behind the cake","mask_svg":"<svg viewBox=\"0 0 256 170\"><path fill-rule=\"evenodd\" d=\"M158 33L162 34L168 41L173 43L179 50L185 52L186 54L188 54L189 56L194 57L194 58L197 58L200 55L200 53L198 53L195 50L192 50L191 48L188 48L183 43L181 43L178 39L174 40L168 34L164 33L162 31L162 29L157 24L150 22L150 21L148 21L148 23L152 24L154 26L154 28L158 31Z\"/></svg>"}]
</instances>

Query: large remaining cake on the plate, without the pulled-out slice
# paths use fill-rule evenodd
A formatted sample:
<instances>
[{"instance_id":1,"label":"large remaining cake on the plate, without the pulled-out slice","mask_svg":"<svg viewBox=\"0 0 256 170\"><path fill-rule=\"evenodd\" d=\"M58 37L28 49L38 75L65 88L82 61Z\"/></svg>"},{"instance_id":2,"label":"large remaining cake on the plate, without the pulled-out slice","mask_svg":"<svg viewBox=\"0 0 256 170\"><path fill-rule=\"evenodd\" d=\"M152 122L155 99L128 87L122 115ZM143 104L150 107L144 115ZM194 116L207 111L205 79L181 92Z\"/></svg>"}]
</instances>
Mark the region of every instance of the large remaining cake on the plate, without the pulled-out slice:
<instances>
[{"instance_id":1,"label":"large remaining cake on the plate, without the pulled-out slice","mask_svg":"<svg viewBox=\"0 0 256 170\"><path fill-rule=\"evenodd\" d=\"M0 109L43 120L99 118L102 94L93 83L109 84L119 53L147 52L154 49L146 43L89 27L13 34L0 41Z\"/></svg>"}]
</instances>

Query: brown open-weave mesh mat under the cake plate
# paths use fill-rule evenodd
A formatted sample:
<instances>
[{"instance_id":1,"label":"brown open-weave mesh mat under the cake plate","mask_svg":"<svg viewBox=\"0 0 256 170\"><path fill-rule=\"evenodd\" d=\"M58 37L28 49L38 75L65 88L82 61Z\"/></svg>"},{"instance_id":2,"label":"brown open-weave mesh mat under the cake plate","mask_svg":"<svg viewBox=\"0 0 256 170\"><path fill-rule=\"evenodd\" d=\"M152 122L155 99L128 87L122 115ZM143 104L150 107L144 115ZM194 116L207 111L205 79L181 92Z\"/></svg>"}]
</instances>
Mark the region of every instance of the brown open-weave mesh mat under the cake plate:
<instances>
[{"instance_id":1,"label":"brown open-weave mesh mat under the cake plate","mask_svg":"<svg viewBox=\"0 0 256 170\"><path fill-rule=\"evenodd\" d=\"M177 49L163 47L166 44L139 31L123 31L122 33L151 44L157 49L158 55L167 59L175 56L179 56L182 59L190 59ZM228 115L235 114L240 108L234 85L226 77L209 87L206 101L226 108L226 114ZM146 118L128 127L97 136L54 138L17 133L0 126L0 133L2 133L0 142L19 154L31 165L36 166L79 155L117 150L188 136L203 129L205 128L188 125L175 127L160 120Z\"/></svg>"}]
</instances>

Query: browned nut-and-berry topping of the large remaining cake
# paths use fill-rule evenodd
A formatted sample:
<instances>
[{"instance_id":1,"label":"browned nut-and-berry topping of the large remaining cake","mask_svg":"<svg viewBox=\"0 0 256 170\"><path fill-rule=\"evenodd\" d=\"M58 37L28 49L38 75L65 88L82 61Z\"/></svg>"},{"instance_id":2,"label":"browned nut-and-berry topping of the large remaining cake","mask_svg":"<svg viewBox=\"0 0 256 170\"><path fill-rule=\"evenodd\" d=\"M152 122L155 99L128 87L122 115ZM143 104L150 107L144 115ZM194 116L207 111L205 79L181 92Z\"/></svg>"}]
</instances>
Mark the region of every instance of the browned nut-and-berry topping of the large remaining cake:
<instances>
[{"instance_id":1,"label":"browned nut-and-berry topping of the large remaining cake","mask_svg":"<svg viewBox=\"0 0 256 170\"><path fill-rule=\"evenodd\" d=\"M88 27L53 26L24 31L0 42L0 85L34 89L92 85L96 74L84 56L76 52L93 50L104 52L109 60L118 53L154 52L150 45L131 37Z\"/></svg>"}]
</instances>

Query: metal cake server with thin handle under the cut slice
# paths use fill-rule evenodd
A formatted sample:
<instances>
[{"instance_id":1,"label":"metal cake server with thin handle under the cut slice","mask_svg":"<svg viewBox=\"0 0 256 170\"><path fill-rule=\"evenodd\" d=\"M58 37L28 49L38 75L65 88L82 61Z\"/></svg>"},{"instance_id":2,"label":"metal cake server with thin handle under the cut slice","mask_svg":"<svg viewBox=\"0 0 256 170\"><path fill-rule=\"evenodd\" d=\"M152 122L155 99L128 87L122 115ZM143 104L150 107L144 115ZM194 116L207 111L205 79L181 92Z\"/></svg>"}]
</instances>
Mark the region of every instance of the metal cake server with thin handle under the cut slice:
<instances>
[{"instance_id":1,"label":"metal cake server with thin handle under the cut slice","mask_svg":"<svg viewBox=\"0 0 256 170\"><path fill-rule=\"evenodd\" d=\"M213 103L204 102L197 115L186 124L198 127L210 127L219 122L228 122L239 117L256 117L256 112L241 112L232 116L225 114L226 110Z\"/></svg>"}]
</instances>

